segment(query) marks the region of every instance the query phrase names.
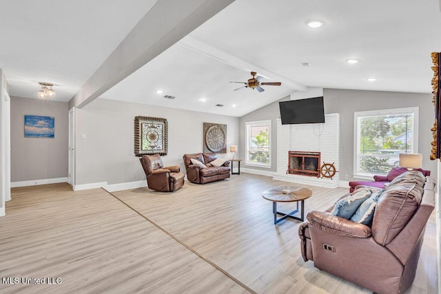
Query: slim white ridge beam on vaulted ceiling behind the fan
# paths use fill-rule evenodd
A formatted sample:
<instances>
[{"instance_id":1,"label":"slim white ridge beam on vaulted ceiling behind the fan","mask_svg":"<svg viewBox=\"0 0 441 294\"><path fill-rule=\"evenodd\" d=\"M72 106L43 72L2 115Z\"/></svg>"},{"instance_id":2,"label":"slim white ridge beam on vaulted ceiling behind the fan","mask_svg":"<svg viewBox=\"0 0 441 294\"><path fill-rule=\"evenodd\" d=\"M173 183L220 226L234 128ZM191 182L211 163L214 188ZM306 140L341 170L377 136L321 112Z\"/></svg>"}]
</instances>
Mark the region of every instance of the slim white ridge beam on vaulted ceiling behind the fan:
<instances>
[{"instance_id":1,"label":"slim white ridge beam on vaulted ceiling behind the fan","mask_svg":"<svg viewBox=\"0 0 441 294\"><path fill-rule=\"evenodd\" d=\"M441 1L441 0L440 0ZM286 87L290 87L292 90L296 90L299 92L305 92L307 87L305 85L300 85L296 81L292 81L285 76L280 76L280 74L276 74L275 72L271 72L269 70L265 70L265 68L260 67L252 62L245 61L244 59L240 59L238 56L234 54L225 52L216 48L212 45L209 45L203 41L200 41L193 36L186 36L184 39L181 39L177 43L178 45L183 46L189 50L193 50L199 54L203 54L207 57L230 65L232 67L236 67L239 70L243 70L245 72L258 72L259 76L264 76L266 78L271 78L273 81L280 81L282 85Z\"/></svg>"}]
</instances>

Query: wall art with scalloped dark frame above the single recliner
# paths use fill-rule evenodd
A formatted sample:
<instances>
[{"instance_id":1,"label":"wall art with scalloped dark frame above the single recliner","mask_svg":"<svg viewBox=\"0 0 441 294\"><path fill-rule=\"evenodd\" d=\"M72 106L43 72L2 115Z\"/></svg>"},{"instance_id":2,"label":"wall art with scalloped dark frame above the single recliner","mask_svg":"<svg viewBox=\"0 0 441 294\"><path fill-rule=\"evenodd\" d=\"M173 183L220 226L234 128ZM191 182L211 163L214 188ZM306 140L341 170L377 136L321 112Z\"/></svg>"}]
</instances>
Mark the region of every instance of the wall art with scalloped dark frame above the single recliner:
<instances>
[{"instance_id":1,"label":"wall art with scalloped dark frame above the single recliner","mask_svg":"<svg viewBox=\"0 0 441 294\"><path fill-rule=\"evenodd\" d=\"M134 151L135 156L145 154L167 155L168 123L165 118L135 116Z\"/></svg>"}]
</instances>

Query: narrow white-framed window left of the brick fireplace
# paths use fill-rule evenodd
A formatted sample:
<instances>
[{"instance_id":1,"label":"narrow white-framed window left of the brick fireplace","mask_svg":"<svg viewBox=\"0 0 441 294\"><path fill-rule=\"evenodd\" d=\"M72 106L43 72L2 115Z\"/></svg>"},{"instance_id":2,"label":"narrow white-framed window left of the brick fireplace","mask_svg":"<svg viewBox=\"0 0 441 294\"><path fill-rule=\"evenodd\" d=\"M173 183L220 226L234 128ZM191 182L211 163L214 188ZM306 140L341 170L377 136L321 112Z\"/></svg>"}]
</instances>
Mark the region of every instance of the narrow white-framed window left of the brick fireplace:
<instances>
[{"instance_id":1,"label":"narrow white-framed window left of the brick fireplace","mask_svg":"<svg viewBox=\"0 0 441 294\"><path fill-rule=\"evenodd\" d=\"M245 163L258 167L271 167L271 120L245 123Z\"/></svg>"}]
</instances>

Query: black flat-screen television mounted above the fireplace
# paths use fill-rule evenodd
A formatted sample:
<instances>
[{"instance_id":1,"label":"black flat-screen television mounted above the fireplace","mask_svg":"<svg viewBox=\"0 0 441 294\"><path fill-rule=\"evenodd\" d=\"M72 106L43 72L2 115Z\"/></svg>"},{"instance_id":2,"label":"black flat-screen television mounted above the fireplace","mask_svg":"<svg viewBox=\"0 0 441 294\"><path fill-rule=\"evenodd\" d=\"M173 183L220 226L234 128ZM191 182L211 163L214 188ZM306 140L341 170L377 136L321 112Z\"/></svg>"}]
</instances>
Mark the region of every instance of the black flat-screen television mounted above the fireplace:
<instances>
[{"instance_id":1,"label":"black flat-screen television mounted above the fireplace","mask_svg":"<svg viewBox=\"0 0 441 294\"><path fill-rule=\"evenodd\" d=\"M282 125L300 123L325 123L323 96L299 100L281 101L280 118Z\"/></svg>"}]
</instances>

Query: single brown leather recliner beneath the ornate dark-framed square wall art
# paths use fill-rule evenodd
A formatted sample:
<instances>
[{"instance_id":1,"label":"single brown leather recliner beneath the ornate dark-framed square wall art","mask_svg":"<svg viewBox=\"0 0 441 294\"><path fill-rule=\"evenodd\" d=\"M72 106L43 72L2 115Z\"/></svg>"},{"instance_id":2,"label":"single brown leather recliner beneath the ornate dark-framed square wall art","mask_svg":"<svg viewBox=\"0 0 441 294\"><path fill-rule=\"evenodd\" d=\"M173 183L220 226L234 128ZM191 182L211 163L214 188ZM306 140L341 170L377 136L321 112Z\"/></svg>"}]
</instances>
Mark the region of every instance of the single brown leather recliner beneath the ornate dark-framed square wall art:
<instances>
[{"instance_id":1,"label":"single brown leather recliner beneath the ornate dark-framed square wall art","mask_svg":"<svg viewBox=\"0 0 441 294\"><path fill-rule=\"evenodd\" d=\"M159 154L139 158L145 171L147 186L156 191L176 191L184 185L184 174L178 165L164 167Z\"/></svg>"}]
</instances>

